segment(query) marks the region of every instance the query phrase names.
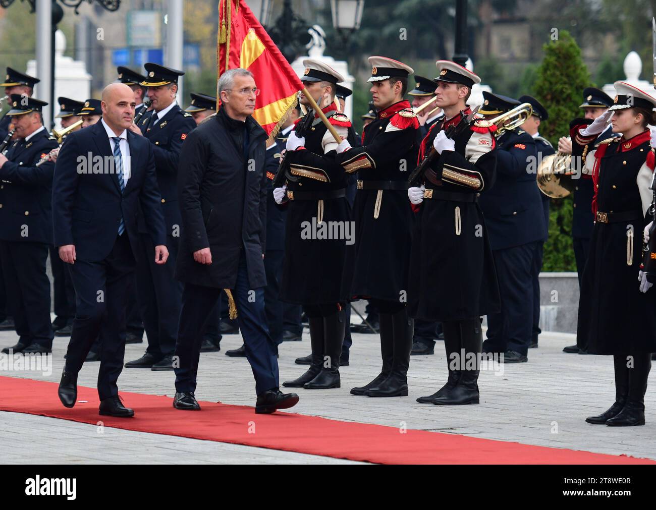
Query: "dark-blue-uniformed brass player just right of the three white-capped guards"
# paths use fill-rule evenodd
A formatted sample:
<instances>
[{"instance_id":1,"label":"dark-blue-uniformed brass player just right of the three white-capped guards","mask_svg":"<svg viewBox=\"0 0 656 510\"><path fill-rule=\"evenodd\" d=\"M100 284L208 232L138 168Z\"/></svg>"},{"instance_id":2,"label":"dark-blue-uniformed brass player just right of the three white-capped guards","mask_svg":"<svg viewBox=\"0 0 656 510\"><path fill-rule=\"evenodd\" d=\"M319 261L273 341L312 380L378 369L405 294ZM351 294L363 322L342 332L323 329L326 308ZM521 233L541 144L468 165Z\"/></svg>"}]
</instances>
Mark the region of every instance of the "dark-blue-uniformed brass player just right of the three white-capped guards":
<instances>
[{"instance_id":1,"label":"dark-blue-uniformed brass player just right of the three white-capped guards","mask_svg":"<svg viewBox=\"0 0 656 510\"><path fill-rule=\"evenodd\" d=\"M490 119L519 104L484 91L478 113ZM483 351L503 354L504 363L527 361L533 336L531 268L546 226L535 172L528 171L531 163L537 163L533 136L521 128L497 136L497 180L480 198L501 294L501 311L487 315Z\"/></svg>"}]
</instances>

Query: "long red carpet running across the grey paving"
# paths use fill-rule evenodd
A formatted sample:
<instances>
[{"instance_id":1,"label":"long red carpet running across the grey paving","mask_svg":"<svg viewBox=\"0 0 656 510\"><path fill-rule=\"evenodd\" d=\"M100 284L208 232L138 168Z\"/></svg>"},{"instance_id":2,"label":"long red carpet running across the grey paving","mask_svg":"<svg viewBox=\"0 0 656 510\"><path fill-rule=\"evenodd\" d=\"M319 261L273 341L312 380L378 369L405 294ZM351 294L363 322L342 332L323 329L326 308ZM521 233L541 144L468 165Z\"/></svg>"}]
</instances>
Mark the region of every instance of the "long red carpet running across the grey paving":
<instances>
[{"instance_id":1,"label":"long red carpet running across the grey paving","mask_svg":"<svg viewBox=\"0 0 656 510\"><path fill-rule=\"evenodd\" d=\"M656 463L614 456L494 441L457 434L340 422L290 412L255 414L252 407L201 402L199 412L178 411L169 397L123 393L134 418L98 415L96 389L79 387L78 403L67 409L57 384L0 377L0 411L22 412L139 432L205 439L304 454L383 464L626 464ZM89 401L79 403L79 401ZM384 406L384 402L381 402ZM298 404L302 409L302 400ZM436 424L438 425L438 424ZM39 459L35 458L35 462Z\"/></svg>"}]
</instances>

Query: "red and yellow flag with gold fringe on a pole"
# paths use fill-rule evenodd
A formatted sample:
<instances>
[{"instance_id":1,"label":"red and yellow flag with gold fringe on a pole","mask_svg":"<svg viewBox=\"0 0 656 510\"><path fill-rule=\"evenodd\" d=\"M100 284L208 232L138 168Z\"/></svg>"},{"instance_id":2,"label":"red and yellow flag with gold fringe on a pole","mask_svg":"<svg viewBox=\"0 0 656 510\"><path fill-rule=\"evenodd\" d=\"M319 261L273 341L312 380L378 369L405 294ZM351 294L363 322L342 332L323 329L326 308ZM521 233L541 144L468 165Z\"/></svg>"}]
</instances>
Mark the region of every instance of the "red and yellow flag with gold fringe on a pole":
<instances>
[{"instance_id":1,"label":"red and yellow flag with gold fringe on a pole","mask_svg":"<svg viewBox=\"0 0 656 510\"><path fill-rule=\"evenodd\" d=\"M217 54L218 76L235 68L253 73L260 89L253 117L276 136L303 85L244 0L218 3Z\"/></svg>"}]
</instances>

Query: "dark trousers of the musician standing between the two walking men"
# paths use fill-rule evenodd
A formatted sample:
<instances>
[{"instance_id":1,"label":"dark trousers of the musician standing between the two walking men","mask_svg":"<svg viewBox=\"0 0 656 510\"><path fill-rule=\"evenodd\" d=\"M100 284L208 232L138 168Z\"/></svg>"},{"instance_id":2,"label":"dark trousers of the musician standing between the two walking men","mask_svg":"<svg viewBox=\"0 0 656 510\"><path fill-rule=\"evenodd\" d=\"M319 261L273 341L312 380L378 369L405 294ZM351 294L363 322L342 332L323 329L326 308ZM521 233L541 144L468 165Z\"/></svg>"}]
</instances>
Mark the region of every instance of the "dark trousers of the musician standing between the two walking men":
<instances>
[{"instance_id":1,"label":"dark trousers of the musician standing between the two walking men","mask_svg":"<svg viewBox=\"0 0 656 510\"><path fill-rule=\"evenodd\" d=\"M182 304L182 283L174 278L178 258L178 237L167 237L169 260L155 264L155 245L150 235L140 234L136 259L136 287L139 307L148 337L146 352L156 358L172 356L178 334Z\"/></svg>"}]
</instances>

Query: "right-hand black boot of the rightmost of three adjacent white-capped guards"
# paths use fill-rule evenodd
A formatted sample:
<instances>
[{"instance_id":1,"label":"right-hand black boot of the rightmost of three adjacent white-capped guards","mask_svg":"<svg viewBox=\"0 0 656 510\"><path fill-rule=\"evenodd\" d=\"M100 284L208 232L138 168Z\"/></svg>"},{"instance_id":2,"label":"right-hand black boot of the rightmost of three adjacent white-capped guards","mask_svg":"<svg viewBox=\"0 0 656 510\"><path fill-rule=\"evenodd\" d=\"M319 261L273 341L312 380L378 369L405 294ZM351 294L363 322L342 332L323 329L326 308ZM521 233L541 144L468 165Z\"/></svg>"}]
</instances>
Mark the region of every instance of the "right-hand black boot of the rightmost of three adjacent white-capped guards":
<instances>
[{"instance_id":1,"label":"right-hand black boot of the rightmost of three adjacent white-capped guards","mask_svg":"<svg viewBox=\"0 0 656 510\"><path fill-rule=\"evenodd\" d=\"M465 319L464 321L458 322L460 324L460 338L462 342L462 350L459 358L462 357L462 351L464 351L465 359L457 359L460 361L462 369L460 380L455 387L445 390L442 395L436 397L433 404L438 406L478 404L480 401L478 374L480 374L480 353L483 348L481 321L476 317L475 319ZM469 365L472 362L469 358L472 355L475 357L475 360L474 366L470 367Z\"/></svg>"}]
</instances>

